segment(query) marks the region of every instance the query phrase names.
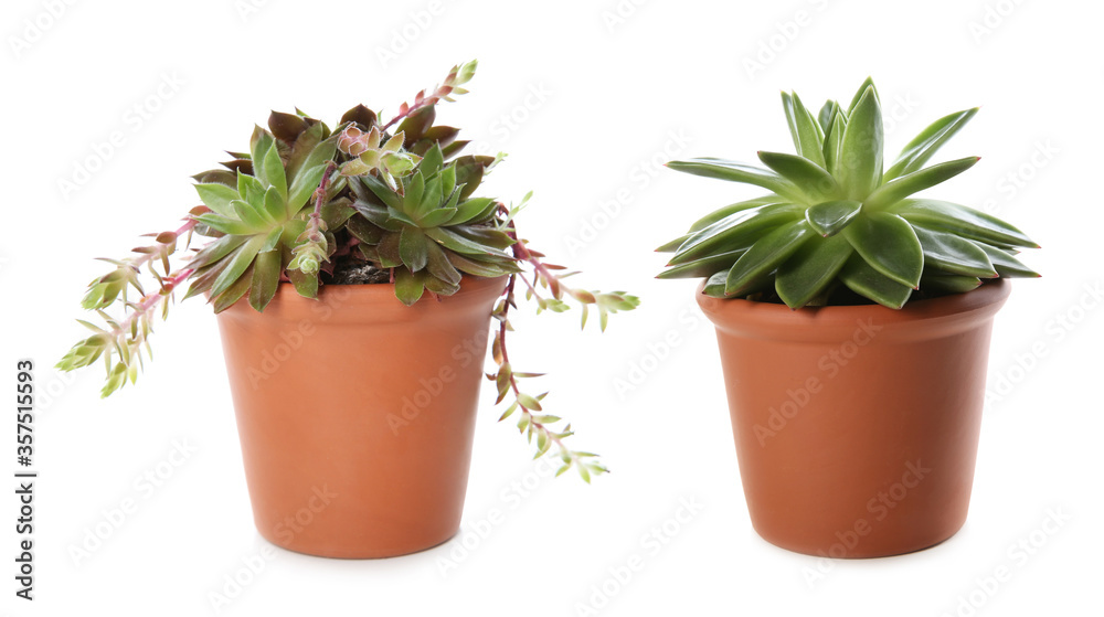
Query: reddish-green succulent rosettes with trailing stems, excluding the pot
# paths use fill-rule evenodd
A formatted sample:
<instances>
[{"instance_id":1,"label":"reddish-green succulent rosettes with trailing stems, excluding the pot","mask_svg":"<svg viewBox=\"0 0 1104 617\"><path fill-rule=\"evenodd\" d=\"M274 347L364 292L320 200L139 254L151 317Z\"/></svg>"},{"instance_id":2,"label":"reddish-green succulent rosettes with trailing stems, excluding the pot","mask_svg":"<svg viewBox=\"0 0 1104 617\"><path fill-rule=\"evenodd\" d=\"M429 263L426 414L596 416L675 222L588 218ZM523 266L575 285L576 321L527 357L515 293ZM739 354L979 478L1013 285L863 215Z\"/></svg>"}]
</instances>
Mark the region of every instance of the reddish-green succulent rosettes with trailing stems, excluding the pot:
<instances>
[{"instance_id":1,"label":"reddish-green succulent rosettes with trailing stems, excluding the pot","mask_svg":"<svg viewBox=\"0 0 1104 617\"><path fill-rule=\"evenodd\" d=\"M465 94L461 86L475 71L474 61L454 66L442 85L402 104L388 123L363 105L349 109L335 130L299 110L273 111L267 130L254 129L248 152L229 152L233 159L222 169L193 177L203 205L192 209L179 228L151 234L152 245L135 248L125 259L107 259L115 269L93 280L82 301L104 323L81 321L92 336L73 345L57 366L72 371L102 359L104 396L134 383L150 354L157 316L167 317L185 284L184 299L204 295L219 312L240 301L263 311L282 283L316 298L320 286L341 283L339 275L348 269L393 283L407 306L426 294L457 292L465 275L508 276L505 298L488 316L499 323L492 347L498 368L488 379L496 382L499 402L513 396L502 418L519 413L518 428L537 440L537 456L555 447L561 472L575 467L590 481L605 471L594 455L563 443L571 426L553 427L560 418L543 413L544 394L521 390L520 380L538 375L511 368L509 311L517 307L519 279L538 312L566 310L571 298L582 307L584 326L593 308L603 329L609 313L631 310L639 300L620 291L569 287L564 278L573 273L559 272L564 268L545 262L517 235L514 216L529 195L512 208L476 196L503 155L459 156L467 145L456 139L459 130L434 124L436 105ZM178 245L182 241L187 248L194 235L209 242L173 269ZM144 275L156 290L144 289ZM130 290L140 298L131 301ZM108 313L115 305L121 318Z\"/></svg>"}]
</instances>

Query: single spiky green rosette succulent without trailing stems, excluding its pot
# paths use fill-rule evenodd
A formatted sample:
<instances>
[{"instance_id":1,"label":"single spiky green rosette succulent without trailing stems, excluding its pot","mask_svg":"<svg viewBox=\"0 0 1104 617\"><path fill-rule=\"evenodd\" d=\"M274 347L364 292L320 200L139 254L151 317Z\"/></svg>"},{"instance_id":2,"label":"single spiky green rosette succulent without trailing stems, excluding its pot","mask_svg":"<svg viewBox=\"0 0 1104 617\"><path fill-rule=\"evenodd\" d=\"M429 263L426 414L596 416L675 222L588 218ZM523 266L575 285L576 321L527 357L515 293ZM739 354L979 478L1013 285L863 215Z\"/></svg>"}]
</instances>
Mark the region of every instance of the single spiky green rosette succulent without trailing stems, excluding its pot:
<instances>
[{"instance_id":1,"label":"single spiky green rosette succulent without trailing stems, excluding its pot","mask_svg":"<svg viewBox=\"0 0 1104 617\"><path fill-rule=\"evenodd\" d=\"M782 95L796 155L758 152L766 169L699 158L678 171L754 184L769 194L724 206L658 248L673 253L659 278L704 277L718 298L782 301L790 308L969 291L983 279L1037 277L1015 255L1038 245L995 216L915 193L966 171L967 157L925 167L977 113L940 118L883 169L878 91L867 79L843 107L814 116Z\"/></svg>"}]
</instances>

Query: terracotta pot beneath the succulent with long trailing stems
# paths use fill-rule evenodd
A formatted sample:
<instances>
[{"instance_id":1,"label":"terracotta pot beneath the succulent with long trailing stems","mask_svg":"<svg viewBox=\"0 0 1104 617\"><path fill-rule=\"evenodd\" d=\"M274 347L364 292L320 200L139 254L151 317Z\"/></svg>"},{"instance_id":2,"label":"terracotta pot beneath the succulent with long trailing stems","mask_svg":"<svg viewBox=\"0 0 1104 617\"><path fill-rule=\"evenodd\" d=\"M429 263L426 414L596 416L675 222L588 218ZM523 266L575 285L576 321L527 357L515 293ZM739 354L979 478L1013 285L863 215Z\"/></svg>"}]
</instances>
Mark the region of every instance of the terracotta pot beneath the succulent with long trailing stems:
<instances>
[{"instance_id":1,"label":"terracotta pot beneath the succulent with long trailing stems","mask_svg":"<svg viewBox=\"0 0 1104 617\"><path fill-rule=\"evenodd\" d=\"M413 553L460 524L490 313L506 278L413 307L392 285L282 284L219 315L257 530L328 557Z\"/></svg>"}]
</instances>

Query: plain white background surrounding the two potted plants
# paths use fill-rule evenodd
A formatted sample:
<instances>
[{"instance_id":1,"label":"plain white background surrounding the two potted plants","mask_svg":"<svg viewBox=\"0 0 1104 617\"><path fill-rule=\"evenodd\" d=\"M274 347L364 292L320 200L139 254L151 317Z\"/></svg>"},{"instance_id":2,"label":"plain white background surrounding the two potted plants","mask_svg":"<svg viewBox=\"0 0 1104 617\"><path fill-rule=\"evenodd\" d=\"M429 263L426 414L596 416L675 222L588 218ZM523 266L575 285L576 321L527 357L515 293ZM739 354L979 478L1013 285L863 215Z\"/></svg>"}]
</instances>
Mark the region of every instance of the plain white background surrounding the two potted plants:
<instances>
[{"instance_id":1,"label":"plain white background surrounding the two potted plants","mask_svg":"<svg viewBox=\"0 0 1104 617\"><path fill-rule=\"evenodd\" d=\"M602 453L614 472L590 487L540 475L512 426L495 423L485 389L465 520L487 526L497 509L505 521L474 550L464 554L456 540L362 562L275 551L223 614L576 615L595 604L603 615L1098 610L1102 319L1090 289L1101 288L1104 223L1100 3L204 0L70 2L49 17L59 3L0 9L0 365L11 375L0 380L13 381L17 358L32 358L43 390L36 600L11 595L9 493L0 611L215 613L210 594L224 593L266 544L252 523L214 319L202 302L179 307L138 387L98 400L98 370L62 377L49 368L84 336L73 318L84 285L104 272L93 257L123 256L139 234L176 226L198 203L188 175L223 149L245 148L269 108L299 106L330 121L360 102L393 110L470 57L480 60L473 93L438 117L510 152L487 190L503 199L535 190L521 221L533 245L584 269L591 287L644 299L602 337L578 334L577 313L519 318L511 353L523 370L551 373L549 408L572 419L576 446ZM1044 277L1017 280L997 318L995 397L963 531L907 556L818 562L752 531L693 283L651 278L662 264L654 246L754 192L657 163L789 151L779 89L819 107L829 96L848 100L868 74L890 116L890 156L931 120L983 106L943 153L981 162L932 194L1027 231L1044 248L1026 260ZM123 146L97 155L114 131ZM106 160L93 160L87 182L60 188L97 156ZM669 336L678 342L665 351ZM174 442L195 451L148 494L135 479L164 470ZM71 547L128 498L137 512L75 563ZM701 510L668 524L658 551L643 543L682 500ZM1052 510L1069 520L1047 534L1039 530ZM1020 541L1043 545L1020 559L1009 553ZM633 555L644 568L609 583L611 568ZM443 573L446 559L456 567ZM984 591L978 579L998 566L1011 579ZM608 597L595 595L603 586Z\"/></svg>"}]
</instances>

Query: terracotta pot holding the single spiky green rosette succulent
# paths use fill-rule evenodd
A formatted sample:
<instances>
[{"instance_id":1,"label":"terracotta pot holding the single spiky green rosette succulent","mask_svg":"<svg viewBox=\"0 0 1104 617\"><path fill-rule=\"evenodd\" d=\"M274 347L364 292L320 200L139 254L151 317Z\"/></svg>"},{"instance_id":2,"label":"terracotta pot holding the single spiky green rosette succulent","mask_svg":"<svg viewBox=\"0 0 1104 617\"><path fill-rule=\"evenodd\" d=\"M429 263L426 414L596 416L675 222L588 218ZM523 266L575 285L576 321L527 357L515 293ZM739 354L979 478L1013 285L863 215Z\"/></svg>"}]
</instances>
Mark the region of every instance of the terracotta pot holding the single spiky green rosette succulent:
<instances>
[{"instance_id":1,"label":"terracotta pot holding the single spiky green rosette succulent","mask_svg":"<svg viewBox=\"0 0 1104 617\"><path fill-rule=\"evenodd\" d=\"M966 521L995 280L901 310L710 298L752 524L799 553L917 551Z\"/></svg>"}]
</instances>

